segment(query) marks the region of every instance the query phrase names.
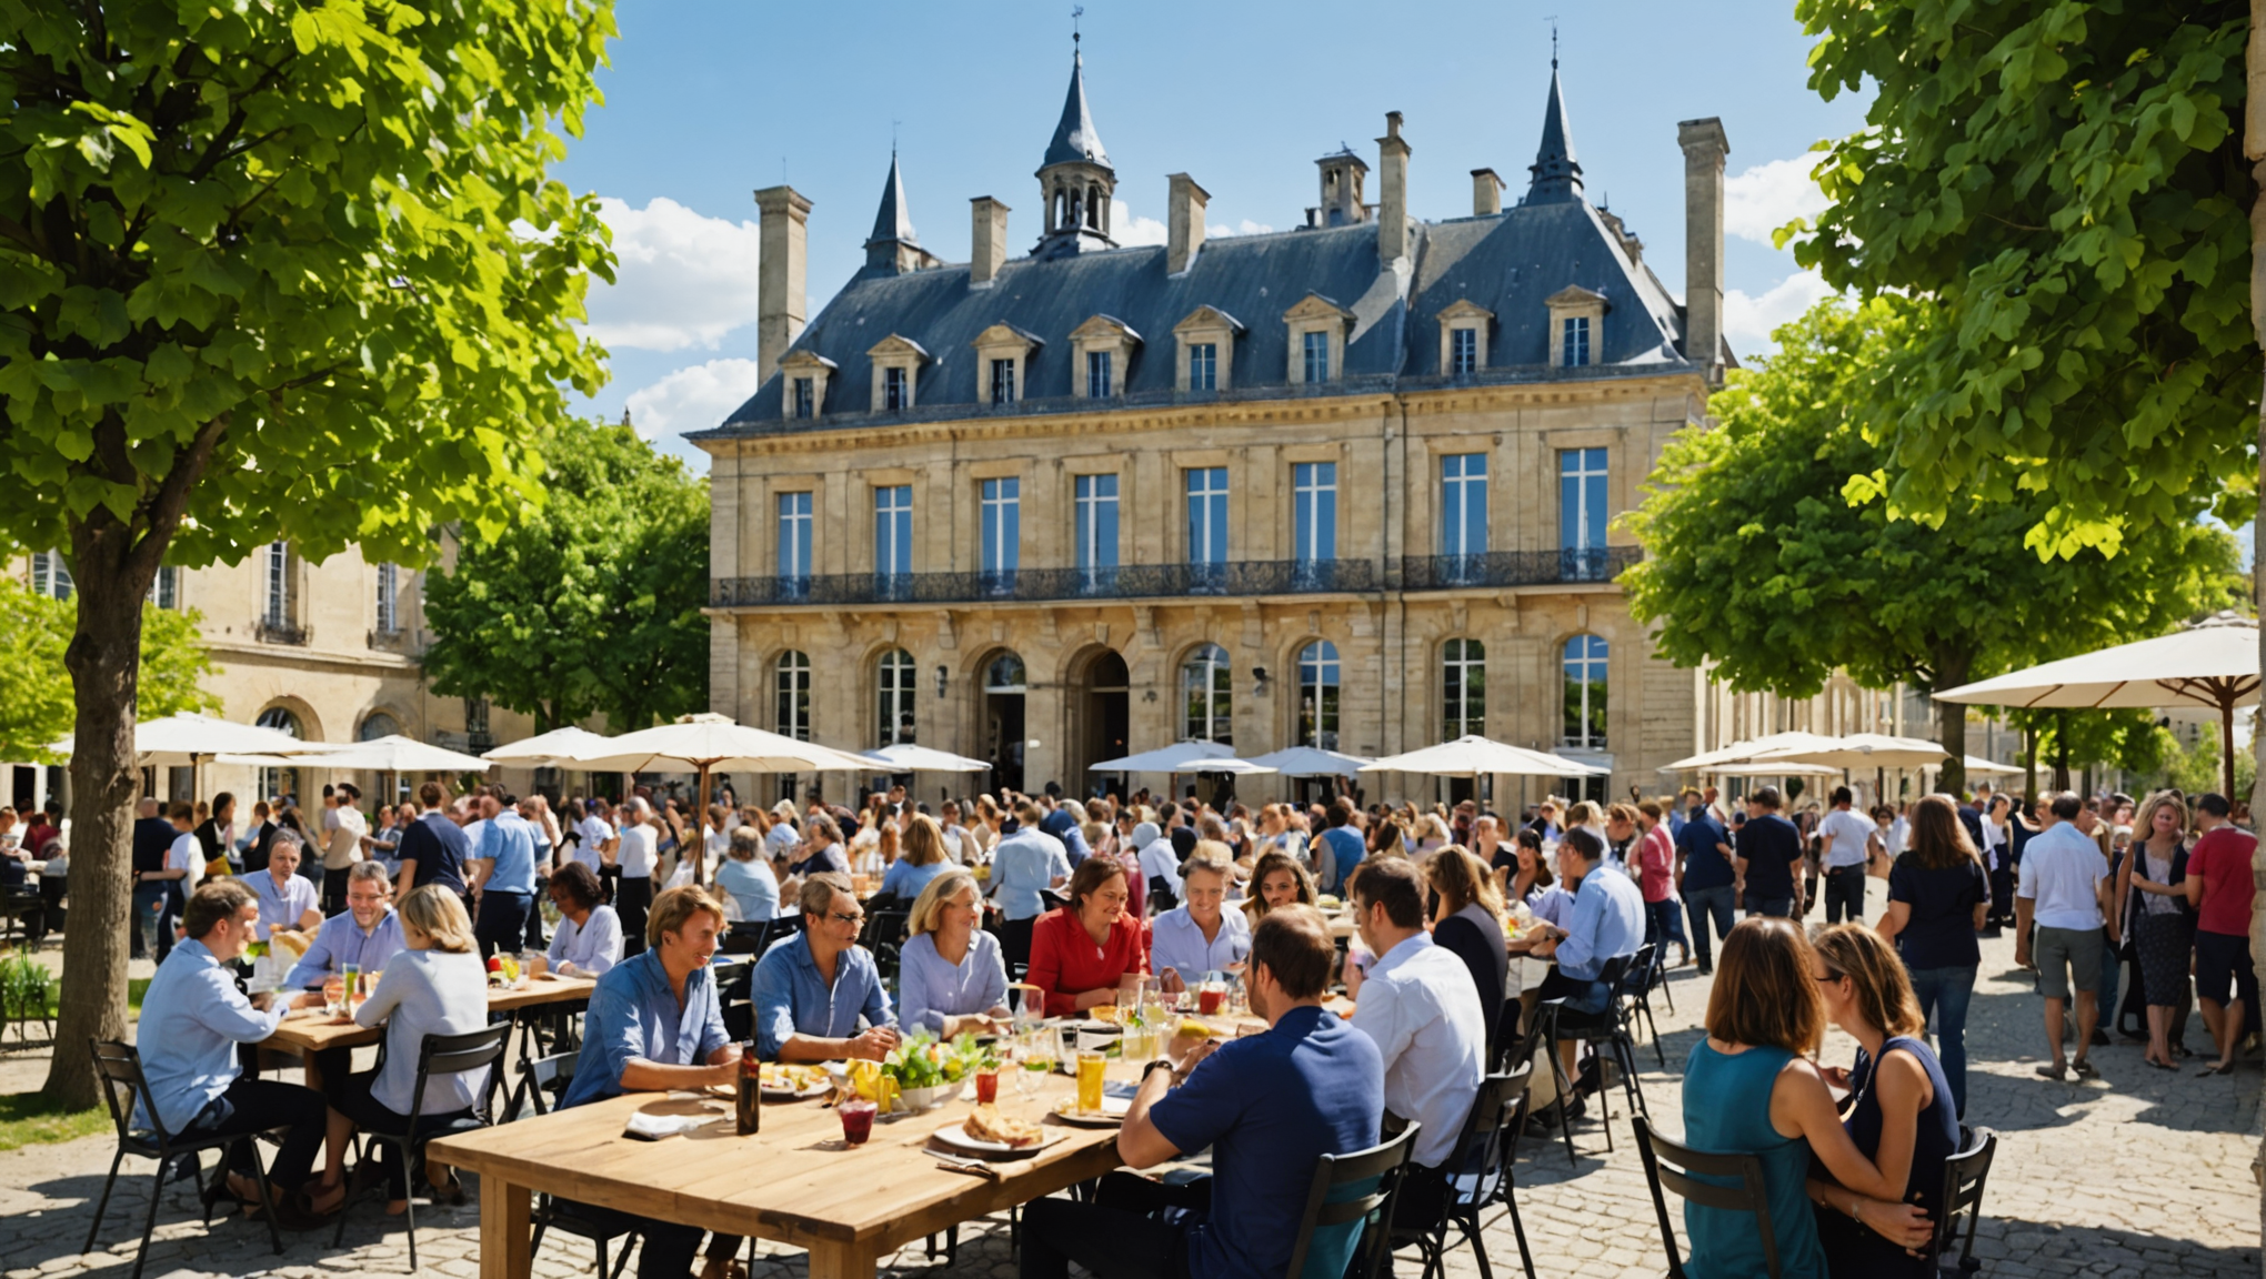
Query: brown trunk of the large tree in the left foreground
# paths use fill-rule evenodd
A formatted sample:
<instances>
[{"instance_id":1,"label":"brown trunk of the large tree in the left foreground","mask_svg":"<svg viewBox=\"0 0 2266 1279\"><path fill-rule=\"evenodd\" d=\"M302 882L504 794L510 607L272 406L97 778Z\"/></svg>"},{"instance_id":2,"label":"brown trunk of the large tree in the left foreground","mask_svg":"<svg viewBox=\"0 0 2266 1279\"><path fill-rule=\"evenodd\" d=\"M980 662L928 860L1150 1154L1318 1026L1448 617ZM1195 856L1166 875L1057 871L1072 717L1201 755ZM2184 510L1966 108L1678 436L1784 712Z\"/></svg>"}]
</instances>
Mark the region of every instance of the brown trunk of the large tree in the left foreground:
<instances>
[{"instance_id":1,"label":"brown trunk of the large tree in the left foreground","mask_svg":"<svg viewBox=\"0 0 2266 1279\"><path fill-rule=\"evenodd\" d=\"M140 607L152 573L134 530L100 512L73 530L79 620L63 650L77 699L70 752L70 928L61 1016L45 1091L70 1109L102 1105L88 1039L127 1039L127 928L134 896L134 695Z\"/></svg>"}]
</instances>

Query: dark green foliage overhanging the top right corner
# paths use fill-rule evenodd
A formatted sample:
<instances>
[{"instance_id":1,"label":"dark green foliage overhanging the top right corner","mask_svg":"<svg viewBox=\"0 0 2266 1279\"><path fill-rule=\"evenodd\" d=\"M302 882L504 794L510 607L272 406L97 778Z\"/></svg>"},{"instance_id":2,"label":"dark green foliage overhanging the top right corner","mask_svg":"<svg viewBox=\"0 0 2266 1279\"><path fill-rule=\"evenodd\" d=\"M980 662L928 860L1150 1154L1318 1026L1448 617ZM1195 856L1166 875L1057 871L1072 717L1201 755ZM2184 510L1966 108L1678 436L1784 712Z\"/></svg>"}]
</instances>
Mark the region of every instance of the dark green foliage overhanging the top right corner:
<instances>
[{"instance_id":1,"label":"dark green foliage overhanging the top right corner","mask_svg":"<svg viewBox=\"0 0 2266 1279\"><path fill-rule=\"evenodd\" d=\"M1811 86L1876 88L1824 145L1795 254L1937 317L1867 387L1856 496L2030 514L2039 555L2255 505L2259 344L2239 0L1799 0ZM1781 238L1797 235L1788 226Z\"/></svg>"}]
</instances>

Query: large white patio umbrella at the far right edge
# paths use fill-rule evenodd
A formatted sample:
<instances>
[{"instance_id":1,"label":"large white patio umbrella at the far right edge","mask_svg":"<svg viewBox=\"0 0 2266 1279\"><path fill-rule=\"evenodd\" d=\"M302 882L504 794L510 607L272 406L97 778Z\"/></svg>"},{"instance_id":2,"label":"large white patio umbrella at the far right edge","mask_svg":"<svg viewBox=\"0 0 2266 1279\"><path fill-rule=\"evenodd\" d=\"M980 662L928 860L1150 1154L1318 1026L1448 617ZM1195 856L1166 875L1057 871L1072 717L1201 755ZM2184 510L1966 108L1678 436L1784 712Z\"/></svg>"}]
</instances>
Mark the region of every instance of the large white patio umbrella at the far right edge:
<instances>
[{"instance_id":1,"label":"large white patio umbrella at the far right edge","mask_svg":"<svg viewBox=\"0 0 2266 1279\"><path fill-rule=\"evenodd\" d=\"M2218 711L2218 761L2225 765L2227 799L2234 799L2234 709L2259 699L2259 625L2239 613L2218 613L2153 641L1962 684L1935 699L2026 711L2212 706Z\"/></svg>"}]
</instances>

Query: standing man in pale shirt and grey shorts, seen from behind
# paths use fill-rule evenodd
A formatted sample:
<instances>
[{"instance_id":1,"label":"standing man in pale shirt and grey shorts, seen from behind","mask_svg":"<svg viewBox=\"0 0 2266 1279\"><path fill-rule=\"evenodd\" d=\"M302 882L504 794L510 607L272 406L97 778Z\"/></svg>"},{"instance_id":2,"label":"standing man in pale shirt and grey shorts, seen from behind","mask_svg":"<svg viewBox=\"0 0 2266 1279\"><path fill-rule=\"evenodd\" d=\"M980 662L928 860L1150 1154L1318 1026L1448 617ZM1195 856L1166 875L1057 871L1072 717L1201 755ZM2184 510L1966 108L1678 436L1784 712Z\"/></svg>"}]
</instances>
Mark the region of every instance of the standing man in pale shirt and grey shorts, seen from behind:
<instances>
[{"instance_id":1,"label":"standing man in pale shirt and grey shorts, seen from behind","mask_svg":"<svg viewBox=\"0 0 2266 1279\"><path fill-rule=\"evenodd\" d=\"M2071 792L2051 797L2046 829L2030 835L2021 849L2021 876L2014 885L2014 962L2030 967L2030 924L2037 924L2037 989L2046 996L2046 1046L2051 1059L2037 1066L2048 1080L2098 1075L2085 1059L2094 1046L2094 1023L2101 1019L2103 924L2107 944L2116 944L2116 912L2110 910L2110 860L2101 844L2076 829L2085 808ZM2062 1010L2069 992L2078 994L2078 1053L2062 1064Z\"/></svg>"}]
</instances>

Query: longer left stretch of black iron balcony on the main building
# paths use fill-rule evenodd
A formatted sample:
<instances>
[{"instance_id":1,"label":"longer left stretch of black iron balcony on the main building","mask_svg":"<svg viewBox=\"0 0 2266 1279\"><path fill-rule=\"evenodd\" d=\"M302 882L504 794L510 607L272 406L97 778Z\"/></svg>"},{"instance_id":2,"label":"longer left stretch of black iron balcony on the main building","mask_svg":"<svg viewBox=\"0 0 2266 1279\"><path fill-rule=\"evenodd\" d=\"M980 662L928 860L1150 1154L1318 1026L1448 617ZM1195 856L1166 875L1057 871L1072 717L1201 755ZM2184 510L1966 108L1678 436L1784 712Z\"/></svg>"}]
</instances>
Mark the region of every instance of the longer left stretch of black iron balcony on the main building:
<instances>
[{"instance_id":1,"label":"longer left stretch of black iron balcony on the main building","mask_svg":"<svg viewBox=\"0 0 2266 1279\"><path fill-rule=\"evenodd\" d=\"M1242 559L1230 564L1122 564L1115 568L1015 568L995 573L827 573L716 577L709 604L1002 604L1153 600L1187 595L1326 595L1380 591L1369 559Z\"/></svg>"}]
</instances>

